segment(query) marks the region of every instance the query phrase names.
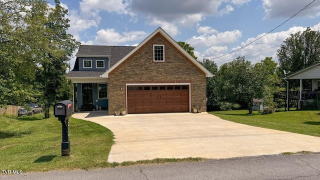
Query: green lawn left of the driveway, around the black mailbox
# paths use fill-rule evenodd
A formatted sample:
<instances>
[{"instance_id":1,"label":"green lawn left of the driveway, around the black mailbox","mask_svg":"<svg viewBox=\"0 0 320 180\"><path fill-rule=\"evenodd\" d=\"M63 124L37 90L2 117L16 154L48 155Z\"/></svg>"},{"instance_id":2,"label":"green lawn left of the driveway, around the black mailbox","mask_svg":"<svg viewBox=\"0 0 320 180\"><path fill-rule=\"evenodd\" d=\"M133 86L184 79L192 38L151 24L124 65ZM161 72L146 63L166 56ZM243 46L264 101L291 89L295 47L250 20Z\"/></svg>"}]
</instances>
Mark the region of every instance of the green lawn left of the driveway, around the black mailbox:
<instances>
[{"instance_id":1,"label":"green lawn left of the driveway, around the black mailbox","mask_svg":"<svg viewBox=\"0 0 320 180\"><path fill-rule=\"evenodd\" d=\"M61 156L61 122L51 113L0 116L0 168L23 172L108 167L112 132L93 122L70 118L70 156Z\"/></svg>"}]
</instances>

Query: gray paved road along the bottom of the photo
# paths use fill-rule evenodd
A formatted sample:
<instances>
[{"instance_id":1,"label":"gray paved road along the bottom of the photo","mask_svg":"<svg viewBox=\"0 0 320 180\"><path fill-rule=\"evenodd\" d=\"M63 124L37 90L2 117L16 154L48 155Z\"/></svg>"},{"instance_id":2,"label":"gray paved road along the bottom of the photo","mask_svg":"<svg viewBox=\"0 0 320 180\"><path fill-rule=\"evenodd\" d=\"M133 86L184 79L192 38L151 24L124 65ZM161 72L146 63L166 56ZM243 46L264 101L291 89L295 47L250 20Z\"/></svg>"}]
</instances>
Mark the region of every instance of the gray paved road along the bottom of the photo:
<instances>
[{"instance_id":1,"label":"gray paved road along the bottom of the photo","mask_svg":"<svg viewBox=\"0 0 320 180\"><path fill-rule=\"evenodd\" d=\"M0 175L0 179L320 179L320 153Z\"/></svg>"}]
</instances>

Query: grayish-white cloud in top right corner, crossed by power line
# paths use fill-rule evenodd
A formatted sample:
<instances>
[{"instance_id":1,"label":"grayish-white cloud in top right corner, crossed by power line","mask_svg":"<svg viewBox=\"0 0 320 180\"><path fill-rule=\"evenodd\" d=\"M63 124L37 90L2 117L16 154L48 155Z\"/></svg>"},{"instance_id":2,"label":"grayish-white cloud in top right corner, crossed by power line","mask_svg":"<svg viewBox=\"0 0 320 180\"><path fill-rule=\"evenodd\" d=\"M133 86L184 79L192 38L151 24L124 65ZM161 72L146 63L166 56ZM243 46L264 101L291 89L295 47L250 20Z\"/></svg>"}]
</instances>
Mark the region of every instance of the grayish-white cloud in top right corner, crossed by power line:
<instances>
[{"instance_id":1,"label":"grayish-white cloud in top right corner, crossed by power line","mask_svg":"<svg viewBox=\"0 0 320 180\"><path fill-rule=\"evenodd\" d=\"M311 1L306 0L263 0L264 19L289 18ZM320 15L320 1L314 1L296 16L317 17Z\"/></svg>"}]
</instances>

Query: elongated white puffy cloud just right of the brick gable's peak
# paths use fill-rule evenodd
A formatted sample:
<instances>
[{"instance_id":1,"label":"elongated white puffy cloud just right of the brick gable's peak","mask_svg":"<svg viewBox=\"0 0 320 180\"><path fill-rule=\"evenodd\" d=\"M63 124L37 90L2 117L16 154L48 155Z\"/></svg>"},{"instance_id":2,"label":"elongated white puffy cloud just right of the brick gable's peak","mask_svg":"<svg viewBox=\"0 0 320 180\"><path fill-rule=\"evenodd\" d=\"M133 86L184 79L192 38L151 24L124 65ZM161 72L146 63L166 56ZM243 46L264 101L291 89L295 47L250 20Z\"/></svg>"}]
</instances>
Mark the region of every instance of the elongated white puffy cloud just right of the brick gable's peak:
<instances>
[{"instance_id":1,"label":"elongated white puffy cloud just right of the brick gable's peak","mask_svg":"<svg viewBox=\"0 0 320 180\"><path fill-rule=\"evenodd\" d=\"M240 30L232 30L219 32L217 34L208 35L206 33L200 36L192 36L187 39L186 42L192 45L193 47L199 46L212 46L223 43L232 43L241 37Z\"/></svg>"}]
</instances>

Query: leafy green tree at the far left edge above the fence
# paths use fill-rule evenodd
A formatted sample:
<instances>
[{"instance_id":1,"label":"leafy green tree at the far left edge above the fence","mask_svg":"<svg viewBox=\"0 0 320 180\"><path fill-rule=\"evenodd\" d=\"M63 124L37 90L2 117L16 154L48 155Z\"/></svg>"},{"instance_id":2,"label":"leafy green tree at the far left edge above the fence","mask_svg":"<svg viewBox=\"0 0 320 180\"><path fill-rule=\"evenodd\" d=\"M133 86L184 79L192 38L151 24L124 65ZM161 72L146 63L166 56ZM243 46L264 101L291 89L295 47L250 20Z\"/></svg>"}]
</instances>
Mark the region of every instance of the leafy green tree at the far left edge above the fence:
<instances>
[{"instance_id":1,"label":"leafy green tree at the far left edge above the fence","mask_svg":"<svg viewBox=\"0 0 320 180\"><path fill-rule=\"evenodd\" d=\"M35 64L27 57L27 0L0 1L0 106L33 101ZM36 20L36 19L34 19ZM31 38L31 37L28 37Z\"/></svg>"}]
</instances>

